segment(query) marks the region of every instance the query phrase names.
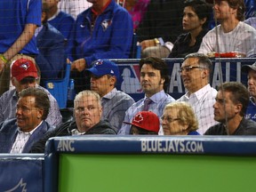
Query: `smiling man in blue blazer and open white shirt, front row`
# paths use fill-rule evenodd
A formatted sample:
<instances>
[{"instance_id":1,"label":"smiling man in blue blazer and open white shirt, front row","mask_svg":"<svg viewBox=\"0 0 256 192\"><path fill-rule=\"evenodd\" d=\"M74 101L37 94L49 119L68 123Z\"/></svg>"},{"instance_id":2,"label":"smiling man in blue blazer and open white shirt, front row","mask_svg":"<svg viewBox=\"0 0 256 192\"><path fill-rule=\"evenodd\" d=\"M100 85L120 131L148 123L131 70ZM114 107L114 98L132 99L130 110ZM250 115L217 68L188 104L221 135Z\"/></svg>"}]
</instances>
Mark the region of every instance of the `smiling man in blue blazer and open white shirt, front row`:
<instances>
[{"instance_id":1,"label":"smiling man in blue blazer and open white shirt, front row","mask_svg":"<svg viewBox=\"0 0 256 192\"><path fill-rule=\"evenodd\" d=\"M32 145L52 129L44 121L49 108L50 100L42 89L22 90L16 118L0 124L0 153L28 153Z\"/></svg>"}]
</instances>

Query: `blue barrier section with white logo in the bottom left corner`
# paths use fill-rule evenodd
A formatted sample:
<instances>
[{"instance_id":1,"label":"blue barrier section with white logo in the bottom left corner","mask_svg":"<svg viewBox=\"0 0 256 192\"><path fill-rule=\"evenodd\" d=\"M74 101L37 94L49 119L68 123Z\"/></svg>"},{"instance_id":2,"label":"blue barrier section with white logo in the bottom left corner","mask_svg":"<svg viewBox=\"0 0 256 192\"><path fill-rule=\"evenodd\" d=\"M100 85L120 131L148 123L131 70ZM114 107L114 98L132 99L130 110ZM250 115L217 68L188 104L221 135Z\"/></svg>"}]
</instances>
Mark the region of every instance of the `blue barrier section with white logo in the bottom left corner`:
<instances>
[{"instance_id":1,"label":"blue barrier section with white logo in the bottom left corner","mask_svg":"<svg viewBox=\"0 0 256 192\"><path fill-rule=\"evenodd\" d=\"M1 192L42 192L44 154L0 154Z\"/></svg>"}]
</instances>

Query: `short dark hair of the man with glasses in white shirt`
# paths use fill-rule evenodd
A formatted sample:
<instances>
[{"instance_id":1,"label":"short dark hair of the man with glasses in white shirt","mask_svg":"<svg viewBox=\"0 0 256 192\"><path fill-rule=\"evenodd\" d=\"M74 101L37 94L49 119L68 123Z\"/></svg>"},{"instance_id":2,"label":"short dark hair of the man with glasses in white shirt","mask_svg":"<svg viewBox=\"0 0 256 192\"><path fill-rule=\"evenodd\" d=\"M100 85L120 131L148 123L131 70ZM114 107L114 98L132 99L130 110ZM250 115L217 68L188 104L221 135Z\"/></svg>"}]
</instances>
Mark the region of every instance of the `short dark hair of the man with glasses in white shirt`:
<instances>
[{"instance_id":1,"label":"short dark hair of the man with glasses in white shirt","mask_svg":"<svg viewBox=\"0 0 256 192\"><path fill-rule=\"evenodd\" d=\"M204 68L209 69L209 82L212 76L212 61L203 53L197 53L193 52L188 54L183 61L187 60L188 58L197 58L198 59L198 64Z\"/></svg>"}]
</instances>

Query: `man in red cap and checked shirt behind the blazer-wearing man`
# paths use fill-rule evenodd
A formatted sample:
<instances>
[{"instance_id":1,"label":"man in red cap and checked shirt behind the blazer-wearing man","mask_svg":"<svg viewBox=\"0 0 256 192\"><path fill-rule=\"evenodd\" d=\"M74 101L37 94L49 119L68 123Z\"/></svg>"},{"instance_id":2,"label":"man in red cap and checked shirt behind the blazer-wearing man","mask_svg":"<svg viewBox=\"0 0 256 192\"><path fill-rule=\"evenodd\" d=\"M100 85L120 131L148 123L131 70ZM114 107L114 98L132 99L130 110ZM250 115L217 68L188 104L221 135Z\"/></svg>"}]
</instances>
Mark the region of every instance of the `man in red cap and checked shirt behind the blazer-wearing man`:
<instances>
[{"instance_id":1,"label":"man in red cap and checked shirt behind the blazer-wearing man","mask_svg":"<svg viewBox=\"0 0 256 192\"><path fill-rule=\"evenodd\" d=\"M4 92L0 97L0 122L15 117L16 105L20 97L19 92L27 89L28 87L36 87L43 89L50 100L50 112L45 121L52 126L60 124L62 117L60 115L60 108L57 100L53 98L50 92L36 84L38 75L35 64L31 60L16 60L12 64L11 74L12 84L15 88Z\"/></svg>"}]
</instances>

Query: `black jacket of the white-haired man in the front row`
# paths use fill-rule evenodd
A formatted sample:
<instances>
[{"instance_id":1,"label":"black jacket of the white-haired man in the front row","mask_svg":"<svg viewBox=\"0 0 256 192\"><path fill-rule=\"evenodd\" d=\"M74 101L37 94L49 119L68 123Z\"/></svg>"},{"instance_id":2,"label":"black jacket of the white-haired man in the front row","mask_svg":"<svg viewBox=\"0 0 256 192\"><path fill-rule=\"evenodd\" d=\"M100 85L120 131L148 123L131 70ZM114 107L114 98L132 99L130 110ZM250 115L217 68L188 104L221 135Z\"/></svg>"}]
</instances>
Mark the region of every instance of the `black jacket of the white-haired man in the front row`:
<instances>
[{"instance_id":1,"label":"black jacket of the white-haired man in the front row","mask_svg":"<svg viewBox=\"0 0 256 192\"><path fill-rule=\"evenodd\" d=\"M30 150L30 153L44 153L45 143L52 137L71 136L71 130L77 129L76 121L69 121L61 124L52 132L48 132L42 140L37 141ZM92 126L90 130L84 134L116 134L115 129L108 123L108 121L100 121L98 124Z\"/></svg>"}]
</instances>

